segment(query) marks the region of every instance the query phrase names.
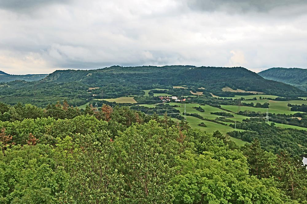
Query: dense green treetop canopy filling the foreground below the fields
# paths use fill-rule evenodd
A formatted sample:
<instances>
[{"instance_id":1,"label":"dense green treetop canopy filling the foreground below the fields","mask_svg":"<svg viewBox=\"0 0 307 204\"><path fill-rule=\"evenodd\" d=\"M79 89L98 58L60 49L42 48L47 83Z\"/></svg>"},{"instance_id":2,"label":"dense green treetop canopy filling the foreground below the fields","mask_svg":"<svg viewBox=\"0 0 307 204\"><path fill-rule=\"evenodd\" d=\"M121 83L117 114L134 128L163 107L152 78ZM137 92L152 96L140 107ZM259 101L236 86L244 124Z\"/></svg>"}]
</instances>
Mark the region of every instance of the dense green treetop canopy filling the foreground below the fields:
<instances>
[{"instance_id":1,"label":"dense green treetop canopy filling the foreground below the fields","mask_svg":"<svg viewBox=\"0 0 307 204\"><path fill-rule=\"evenodd\" d=\"M307 171L127 106L0 104L1 203L307 203Z\"/></svg>"}]
</instances>

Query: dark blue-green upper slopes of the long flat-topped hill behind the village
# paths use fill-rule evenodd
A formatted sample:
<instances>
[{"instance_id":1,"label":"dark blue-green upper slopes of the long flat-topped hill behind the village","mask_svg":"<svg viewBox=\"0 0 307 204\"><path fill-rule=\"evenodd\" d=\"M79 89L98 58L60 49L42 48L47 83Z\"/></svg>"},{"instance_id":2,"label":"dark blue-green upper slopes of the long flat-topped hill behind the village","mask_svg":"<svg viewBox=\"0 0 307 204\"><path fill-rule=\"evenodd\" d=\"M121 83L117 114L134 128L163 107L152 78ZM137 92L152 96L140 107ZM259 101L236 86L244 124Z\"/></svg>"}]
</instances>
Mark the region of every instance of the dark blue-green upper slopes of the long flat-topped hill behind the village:
<instances>
[{"instance_id":1,"label":"dark blue-green upper slopes of the long flat-topped hill behind the village","mask_svg":"<svg viewBox=\"0 0 307 204\"><path fill-rule=\"evenodd\" d=\"M306 95L305 92L297 88L284 83L266 80L255 72L242 67L113 66L89 71L56 71L43 81L80 81L92 87L122 82L138 85L142 88L152 86L153 84L160 84L165 87L184 84L187 86L205 87L206 91L216 92L217 95L223 92L223 87L231 87L235 90L259 91L278 96Z\"/></svg>"}]
</instances>

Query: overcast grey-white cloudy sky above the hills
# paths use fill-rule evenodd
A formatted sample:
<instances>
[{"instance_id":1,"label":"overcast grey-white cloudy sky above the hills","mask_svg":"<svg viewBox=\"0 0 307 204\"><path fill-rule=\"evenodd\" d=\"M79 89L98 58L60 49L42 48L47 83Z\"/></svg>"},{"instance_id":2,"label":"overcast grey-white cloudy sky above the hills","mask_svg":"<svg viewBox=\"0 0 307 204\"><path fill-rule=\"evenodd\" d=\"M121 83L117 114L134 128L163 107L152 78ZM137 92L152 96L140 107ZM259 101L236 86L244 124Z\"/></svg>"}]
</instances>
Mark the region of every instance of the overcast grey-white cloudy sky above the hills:
<instances>
[{"instance_id":1,"label":"overcast grey-white cloudy sky above the hills","mask_svg":"<svg viewBox=\"0 0 307 204\"><path fill-rule=\"evenodd\" d=\"M0 0L0 70L307 68L306 10L305 0Z\"/></svg>"}]
</instances>

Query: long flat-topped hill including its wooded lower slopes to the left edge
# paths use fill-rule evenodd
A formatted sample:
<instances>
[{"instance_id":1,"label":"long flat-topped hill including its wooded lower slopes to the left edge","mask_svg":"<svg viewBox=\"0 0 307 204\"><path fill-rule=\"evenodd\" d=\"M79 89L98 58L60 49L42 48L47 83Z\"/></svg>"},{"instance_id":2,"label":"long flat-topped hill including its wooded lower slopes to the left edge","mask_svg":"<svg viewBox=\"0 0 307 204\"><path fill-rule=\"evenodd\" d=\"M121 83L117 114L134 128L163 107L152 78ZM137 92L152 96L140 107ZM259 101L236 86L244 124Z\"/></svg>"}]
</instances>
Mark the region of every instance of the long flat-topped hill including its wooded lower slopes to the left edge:
<instances>
[{"instance_id":1,"label":"long flat-topped hill including its wooded lower slopes to the left edge","mask_svg":"<svg viewBox=\"0 0 307 204\"><path fill-rule=\"evenodd\" d=\"M144 95L143 90L152 88L172 89L173 86L204 87L206 95L233 96L233 90L263 92L282 97L307 96L289 84L266 80L242 67L195 67L195 66L112 66L96 70L58 70L39 82L15 81L0 86L0 100L7 103L31 102L44 106L57 100L67 99L86 103L93 98L116 98ZM93 88L89 90L89 88ZM99 87L99 88L98 88ZM226 87L226 88L225 88ZM2 89L2 90L1 90ZM223 90L224 91L223 91ZM251 93L248 93L251 94ZM15 97L16 101L11 100ZM73 104L74 104L73 103Z\"/></svg>"}]
</instances>

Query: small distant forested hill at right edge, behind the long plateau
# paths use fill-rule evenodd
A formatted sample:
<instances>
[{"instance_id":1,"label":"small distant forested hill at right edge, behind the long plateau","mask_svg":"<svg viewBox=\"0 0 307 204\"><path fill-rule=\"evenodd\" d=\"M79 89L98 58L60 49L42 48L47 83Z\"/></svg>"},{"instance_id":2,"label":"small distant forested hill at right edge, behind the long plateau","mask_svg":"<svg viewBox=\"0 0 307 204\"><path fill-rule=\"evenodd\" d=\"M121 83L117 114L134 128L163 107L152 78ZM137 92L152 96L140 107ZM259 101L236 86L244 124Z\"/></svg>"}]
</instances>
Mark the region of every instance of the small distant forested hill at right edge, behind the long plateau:
<instances>
[{"instance_id":1,"label":"small distant forested hill at right edge, behind the long plateau","mask_svg":"<svg viewBox=\"0 0 307 204\"><path fill-rule=\"evenodd\" d=\"M307 90L307 69L271 68L258 73L265 79L291 84L301 90Z\"/></svg>"}]
</instances>

